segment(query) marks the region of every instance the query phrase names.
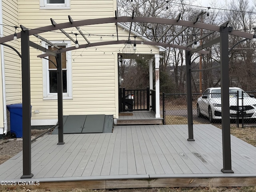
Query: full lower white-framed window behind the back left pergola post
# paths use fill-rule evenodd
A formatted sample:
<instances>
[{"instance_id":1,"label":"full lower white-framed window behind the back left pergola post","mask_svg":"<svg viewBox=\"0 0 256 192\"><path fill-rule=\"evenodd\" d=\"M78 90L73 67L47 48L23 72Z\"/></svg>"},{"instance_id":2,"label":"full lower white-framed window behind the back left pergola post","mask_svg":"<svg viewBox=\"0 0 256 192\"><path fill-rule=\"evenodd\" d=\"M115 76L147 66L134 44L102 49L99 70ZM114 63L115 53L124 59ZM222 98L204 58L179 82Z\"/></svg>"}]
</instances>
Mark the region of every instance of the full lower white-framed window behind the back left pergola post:
<instances>
[{"instance_id":1,"label":"full lower white-framed window behind the back left pergola post","mask_svg":"<svg viewBox=\"0 0 256 192\"><path fill-rule=\"evenodd\" d=\"M57 44L54 41L52 43L60 48L66 48L71 44L71 42L68 44ZM56 48L51 48L49 44L44 46L50 50L56 50ZM68 58L68 55L71 54L69 52L61 54L63 99L72 99L71 58ZM48 59L57 65L54 56L49 56ZM57 69L49 60L43 59L43 97L44 99L57 99Z\"/></svg>"}]
</instances>

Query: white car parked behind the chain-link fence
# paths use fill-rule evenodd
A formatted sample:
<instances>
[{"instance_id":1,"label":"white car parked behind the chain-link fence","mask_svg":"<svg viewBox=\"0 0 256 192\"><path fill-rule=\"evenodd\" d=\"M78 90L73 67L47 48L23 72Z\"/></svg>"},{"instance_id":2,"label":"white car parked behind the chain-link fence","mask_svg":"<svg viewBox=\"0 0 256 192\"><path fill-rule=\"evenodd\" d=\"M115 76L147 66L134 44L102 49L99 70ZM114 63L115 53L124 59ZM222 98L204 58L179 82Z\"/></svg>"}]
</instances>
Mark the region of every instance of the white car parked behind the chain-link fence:
<instances>
[{"instance_id":1,"label":"white car parked behind the chain-link fence","mask_svg":"<svg viewBox=\"0 0 256 192\"><path fill-rule=\"evenodd\" d=\"M243 92L243 97L242 97ZM237 97L238 93L238 97ZM243 99L242 99L243 98ZM238 87L229 88L230 119L256 118L256 98ZM197 100L197 116L206 116L212 122L221 119L220 87L208 88Z\"/></svg>"}]
</instances>

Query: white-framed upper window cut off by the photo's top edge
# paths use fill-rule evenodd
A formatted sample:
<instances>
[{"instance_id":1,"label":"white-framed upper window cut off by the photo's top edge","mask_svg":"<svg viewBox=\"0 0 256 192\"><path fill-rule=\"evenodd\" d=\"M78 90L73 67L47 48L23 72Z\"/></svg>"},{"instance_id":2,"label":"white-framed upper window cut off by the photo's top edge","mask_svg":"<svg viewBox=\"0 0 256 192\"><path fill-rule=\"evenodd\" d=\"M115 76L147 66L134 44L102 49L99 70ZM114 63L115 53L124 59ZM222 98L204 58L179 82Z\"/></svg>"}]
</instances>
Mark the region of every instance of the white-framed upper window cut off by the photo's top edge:
<instances>
[{"instance_id":1,"label":"white-framed upper window cut off by the photo's top edge","mask_svg":"<svg viewBox=\"0 0 256 192\"><path fill-rule=\"evenodd\" d=\"M70 0L40 0L40 9L70 9Z\"/></svg>"}]
</instances>

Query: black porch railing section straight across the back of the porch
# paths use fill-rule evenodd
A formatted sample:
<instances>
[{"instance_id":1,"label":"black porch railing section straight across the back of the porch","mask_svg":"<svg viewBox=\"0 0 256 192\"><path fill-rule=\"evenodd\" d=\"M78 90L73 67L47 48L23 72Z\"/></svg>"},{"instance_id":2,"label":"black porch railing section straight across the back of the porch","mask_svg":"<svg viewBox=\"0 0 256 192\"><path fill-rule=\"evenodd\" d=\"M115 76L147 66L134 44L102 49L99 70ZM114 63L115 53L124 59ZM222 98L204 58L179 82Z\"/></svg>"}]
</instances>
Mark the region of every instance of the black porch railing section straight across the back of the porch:
<instances>
[{"instance_id":1,"label":"black porch railing section straight across the back of the porch","mask_svg":"<svg viewBox=\"0 0 256 192\"><path fill-rule=\"evenodd\" d=\"M146 89L130 89L120 88L122 96L122 111L149 111L150 90Z\"/></svg>"}]
</instances>

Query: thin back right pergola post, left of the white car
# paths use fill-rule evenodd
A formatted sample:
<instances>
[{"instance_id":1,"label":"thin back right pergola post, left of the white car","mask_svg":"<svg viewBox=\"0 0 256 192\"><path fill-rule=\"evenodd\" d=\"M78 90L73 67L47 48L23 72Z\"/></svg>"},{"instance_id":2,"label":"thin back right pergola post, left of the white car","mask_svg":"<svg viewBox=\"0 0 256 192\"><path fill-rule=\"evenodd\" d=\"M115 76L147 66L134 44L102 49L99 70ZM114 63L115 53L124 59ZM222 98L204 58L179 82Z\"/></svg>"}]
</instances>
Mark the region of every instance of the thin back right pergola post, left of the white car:
<instances>
[{"instance_id":1,"label":"thin back right pergola post, left of the white car","mask_svg":"<svg viewBox=\"0 0 256 192\"><path fill-rule=\"evenodd\" d=\"M187 77L187 110L188 110L188 141L194 141L193 134L193 110L192 110L192 88L191 88L191 55L186 51L186 77Z\"/></svg>"}]
</instances>

